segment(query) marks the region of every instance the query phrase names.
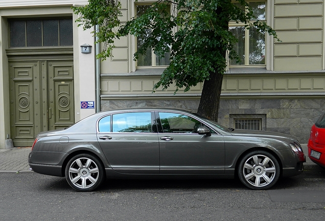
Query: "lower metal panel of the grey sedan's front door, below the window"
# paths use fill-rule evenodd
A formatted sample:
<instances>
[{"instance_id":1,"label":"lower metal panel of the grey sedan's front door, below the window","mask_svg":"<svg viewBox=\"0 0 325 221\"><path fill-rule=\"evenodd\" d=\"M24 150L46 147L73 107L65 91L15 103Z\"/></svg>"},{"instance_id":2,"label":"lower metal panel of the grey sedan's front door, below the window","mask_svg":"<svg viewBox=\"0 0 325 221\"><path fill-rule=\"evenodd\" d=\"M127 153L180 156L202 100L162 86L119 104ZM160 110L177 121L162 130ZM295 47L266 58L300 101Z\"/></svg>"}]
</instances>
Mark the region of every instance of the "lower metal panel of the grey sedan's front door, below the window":
<instances>
[{"instance_id":1,"label":"lower metal panel of the grey sedan's front door, below the window","mask_svg":"<svg viewBox=\"0 0 325 221\"><path fill-rule=\"evenodd\" d=\"M171 137L172 140L161 138ZM224 173L224 140L198 134L159 134L160 174Z\"/></svg>"}]
</instances>

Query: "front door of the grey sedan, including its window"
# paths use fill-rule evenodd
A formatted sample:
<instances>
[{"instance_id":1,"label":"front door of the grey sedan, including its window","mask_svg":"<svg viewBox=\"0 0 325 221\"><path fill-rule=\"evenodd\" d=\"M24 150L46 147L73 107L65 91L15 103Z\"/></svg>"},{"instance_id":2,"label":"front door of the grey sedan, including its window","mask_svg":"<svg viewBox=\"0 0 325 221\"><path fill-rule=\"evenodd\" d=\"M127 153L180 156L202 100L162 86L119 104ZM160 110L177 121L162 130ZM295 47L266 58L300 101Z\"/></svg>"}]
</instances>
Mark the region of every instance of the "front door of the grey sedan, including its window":
<instances>
[{"instance_id":1,"label":"front door of the grey sedan, including its window","mask_svg":"<svg viewBox=\"0 0 325 221\"><path fill-rule=\"evenodd\" d=\"M158 112L160 174L223 174L225 146L222 135L199 135L202 123L181 113Z\"/></svg>"}]
</instances>

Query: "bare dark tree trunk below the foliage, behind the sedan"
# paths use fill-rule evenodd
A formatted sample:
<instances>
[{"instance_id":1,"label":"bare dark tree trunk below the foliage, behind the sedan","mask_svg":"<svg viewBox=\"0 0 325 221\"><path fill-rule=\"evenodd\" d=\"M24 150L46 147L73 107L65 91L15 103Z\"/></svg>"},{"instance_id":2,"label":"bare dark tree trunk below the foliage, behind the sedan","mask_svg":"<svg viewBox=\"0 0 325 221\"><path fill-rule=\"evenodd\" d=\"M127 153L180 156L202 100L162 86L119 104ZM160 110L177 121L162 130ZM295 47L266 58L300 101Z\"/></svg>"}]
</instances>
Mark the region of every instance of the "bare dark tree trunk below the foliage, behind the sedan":
<instances>
[{"instance_id":1,"label":"bare dark tree trunk below the foliage, behind the sedan","mask_svg":"<svg viewBox=\"0 0 325 221\"><path fill-rule=\"evenodd\" d=\"M208 119L218 121L219 102L222 88L223 74L216 72L210 75L203 84L202 95L197 113Z\"/></svg>"}]
</instances>

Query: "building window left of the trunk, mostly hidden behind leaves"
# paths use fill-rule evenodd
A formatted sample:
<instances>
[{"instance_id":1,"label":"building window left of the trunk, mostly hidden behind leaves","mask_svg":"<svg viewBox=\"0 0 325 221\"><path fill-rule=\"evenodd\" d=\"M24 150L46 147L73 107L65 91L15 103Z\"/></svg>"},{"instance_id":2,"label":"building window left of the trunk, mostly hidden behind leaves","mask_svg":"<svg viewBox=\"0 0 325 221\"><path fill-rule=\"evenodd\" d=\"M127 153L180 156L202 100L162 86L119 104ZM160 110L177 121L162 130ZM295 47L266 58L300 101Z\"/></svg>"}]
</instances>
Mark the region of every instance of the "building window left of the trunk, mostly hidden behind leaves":
<instances>
[{"instance_id":1,"label":"building window left of the trunk, mostly hidden behind leaves","mask_svg":"<svg viewBox=\"0 0 325 221\"><path fill-rule=\"evenodd\" d=\"M137 5L136 15L142 15L151 5ZM170 6L168 7L170 13ZM136 38L136 49L138 50L144 43L144 40L151 33L150 29L146 30L146 34ZM155 55L152 48L148 48L146 53L139 55L137 59L137 67L167 66L170 63L170 52L165 53L165 57L159 58Z\"/></svg>"}]
</instances>

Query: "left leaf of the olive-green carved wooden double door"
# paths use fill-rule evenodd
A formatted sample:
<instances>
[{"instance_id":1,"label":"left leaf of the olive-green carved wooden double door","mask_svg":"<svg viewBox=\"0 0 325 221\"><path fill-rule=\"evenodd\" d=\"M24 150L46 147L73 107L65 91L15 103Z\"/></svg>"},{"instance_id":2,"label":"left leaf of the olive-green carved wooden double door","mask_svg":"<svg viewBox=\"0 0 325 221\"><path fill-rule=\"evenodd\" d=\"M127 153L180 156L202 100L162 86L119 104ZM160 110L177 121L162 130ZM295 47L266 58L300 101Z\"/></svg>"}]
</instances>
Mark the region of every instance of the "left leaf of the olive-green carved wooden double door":
<instances>
[{"instance_id":1,"label":"left leaf of the olive-green carved wooden double door","mask_svg":"<svg viewBox=\"0 0 325 221\"><path fill-rule=\"evenodd\" d=\"M10 125L14 146L31 146L41 131L39 62L10 62Z\"/></svg>"}]
</instances>

